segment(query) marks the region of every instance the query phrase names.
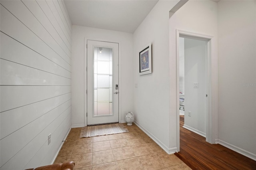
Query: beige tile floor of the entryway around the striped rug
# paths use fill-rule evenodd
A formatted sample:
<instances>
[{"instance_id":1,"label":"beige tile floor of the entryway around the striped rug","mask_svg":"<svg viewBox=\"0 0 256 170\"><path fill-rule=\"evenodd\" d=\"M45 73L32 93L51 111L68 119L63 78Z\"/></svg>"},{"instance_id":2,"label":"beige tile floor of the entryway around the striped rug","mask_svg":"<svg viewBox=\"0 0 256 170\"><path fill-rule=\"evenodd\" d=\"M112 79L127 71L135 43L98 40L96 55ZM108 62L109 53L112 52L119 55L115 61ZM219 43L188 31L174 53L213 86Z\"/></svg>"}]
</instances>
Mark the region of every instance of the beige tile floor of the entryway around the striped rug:
<instances>
[{"instance_id":1,"label":"beige tile floor of the entryway around the striped rug","mask_svg":"<svg viewBox=\"0 0 256 170\"><path fill-rule=\"evenodd\" d=\"M129 132L90 138L72 128L54 163L74 161L77 170L190 170L136 125L126 128Z\"/></svg>"}]
</instances>

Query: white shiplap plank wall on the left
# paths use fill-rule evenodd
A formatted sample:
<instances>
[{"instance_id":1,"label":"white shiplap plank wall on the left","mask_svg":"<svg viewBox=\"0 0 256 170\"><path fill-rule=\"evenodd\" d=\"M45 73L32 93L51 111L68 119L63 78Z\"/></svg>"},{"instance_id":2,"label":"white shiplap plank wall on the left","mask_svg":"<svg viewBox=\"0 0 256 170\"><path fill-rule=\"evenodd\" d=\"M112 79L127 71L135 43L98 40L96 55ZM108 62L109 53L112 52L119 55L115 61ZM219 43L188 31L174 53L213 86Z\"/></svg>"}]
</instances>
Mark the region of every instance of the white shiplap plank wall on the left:
<instances>
[{"instance_id":1,"label":"white shiplap plank wall on the left","mask_svg":"<svg viewBox=\"0 0 256 170\"><path fill-rule=\"evenodd\" d=\"M70 18L62 0L0 4L0 170L51 164L71 127Z\"/></svg>"}]
</instances>

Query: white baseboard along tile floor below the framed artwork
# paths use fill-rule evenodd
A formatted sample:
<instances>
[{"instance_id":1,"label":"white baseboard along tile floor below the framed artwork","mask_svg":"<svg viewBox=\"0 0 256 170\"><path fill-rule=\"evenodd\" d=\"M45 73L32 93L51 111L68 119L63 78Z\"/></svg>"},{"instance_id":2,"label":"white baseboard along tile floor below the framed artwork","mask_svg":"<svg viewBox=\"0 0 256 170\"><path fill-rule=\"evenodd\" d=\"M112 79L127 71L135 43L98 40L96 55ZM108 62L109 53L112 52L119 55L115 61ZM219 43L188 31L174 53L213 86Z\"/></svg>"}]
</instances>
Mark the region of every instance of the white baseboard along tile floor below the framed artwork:
<instances>
[{"instance_id":1,"label":"white baseboard along tile floor below the framed artwork","mask_svg":"<svg viewBox=\"0 0 256 170\"><path fill-rule=\"evenodd\" d=\"M134 121L135 125L137 125L143 132L145 132L156 144L158 144L166 153L168 154L174 154L175 152L178 152L178 148L168 148L165 144L163 144L156 136L154 136L152 133L150 133L148 130L146 130L142 125L140 125L138 122Z\"/></svg>"}]
</instances>

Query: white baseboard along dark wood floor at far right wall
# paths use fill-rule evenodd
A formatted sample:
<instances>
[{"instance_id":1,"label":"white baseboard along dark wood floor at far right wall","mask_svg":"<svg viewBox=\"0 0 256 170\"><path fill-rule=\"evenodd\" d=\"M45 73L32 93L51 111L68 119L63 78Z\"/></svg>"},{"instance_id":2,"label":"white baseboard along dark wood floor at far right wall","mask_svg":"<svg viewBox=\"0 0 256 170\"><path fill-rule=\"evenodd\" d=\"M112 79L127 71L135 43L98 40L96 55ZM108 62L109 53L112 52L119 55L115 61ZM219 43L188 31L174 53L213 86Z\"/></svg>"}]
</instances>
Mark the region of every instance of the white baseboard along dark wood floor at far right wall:
<instances>
[{"instance_id":1,"label":"white baseboard along dark wood floor at far right wall","mask_svg":"<svg viewBox=\"0 0 256 170\"><path fill-rule=\"evenodd\" d=\"M246 151L246 150L244 150L242 148L238 148L237 146L234 146L234 145L232 145L232 144L230 144L228 142L225 142L223 140L220 140L220 139L216 139L215 143L216 144L220 144L222 146L225 146L226 148L234 150L235 152L238 152L238 153L240 153L240 154L242 154L242 155L244 155L244 156L246 156L246 157L256 161L256 154L248 152L248 151Z\"/></svg>"}]
</instances>

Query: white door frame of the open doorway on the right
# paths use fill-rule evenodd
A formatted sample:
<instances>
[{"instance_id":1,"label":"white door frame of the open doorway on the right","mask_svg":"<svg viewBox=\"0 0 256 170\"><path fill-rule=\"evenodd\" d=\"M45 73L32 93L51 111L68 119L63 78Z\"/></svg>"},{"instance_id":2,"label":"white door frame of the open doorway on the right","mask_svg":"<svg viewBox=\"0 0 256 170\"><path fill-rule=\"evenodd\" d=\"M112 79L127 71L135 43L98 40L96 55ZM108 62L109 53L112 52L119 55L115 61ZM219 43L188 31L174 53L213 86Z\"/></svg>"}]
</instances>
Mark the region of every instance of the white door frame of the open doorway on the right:
<instances>
[{"instance_id":1,"label":"white door frame of the open doorway on the right","mask_svg":"<svg viewBox=\"0 0 256 170\"><path fill-rule=\"evenodd\" d=\"M218 92L216 82L218 83L218 63L216 63L216 56L214 56L214 37L194 32L187 32L184 30L176 30L176 115L177 115L177 150L180 151L180 109L179 109L179 93L180 93L180 75L179 75L179 38L192 38L196 40L206 41L206 142L211 144L216 143L215 138L217 134L216 129L216 107L218 103ZM218 84L217 84L218 85ZM216 103L217 101L217 103Z\"/></svg>"}]
</instances>

